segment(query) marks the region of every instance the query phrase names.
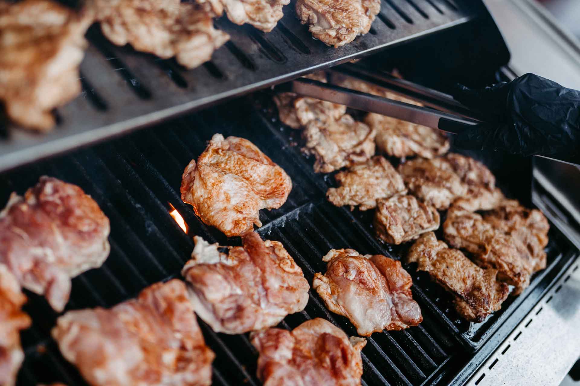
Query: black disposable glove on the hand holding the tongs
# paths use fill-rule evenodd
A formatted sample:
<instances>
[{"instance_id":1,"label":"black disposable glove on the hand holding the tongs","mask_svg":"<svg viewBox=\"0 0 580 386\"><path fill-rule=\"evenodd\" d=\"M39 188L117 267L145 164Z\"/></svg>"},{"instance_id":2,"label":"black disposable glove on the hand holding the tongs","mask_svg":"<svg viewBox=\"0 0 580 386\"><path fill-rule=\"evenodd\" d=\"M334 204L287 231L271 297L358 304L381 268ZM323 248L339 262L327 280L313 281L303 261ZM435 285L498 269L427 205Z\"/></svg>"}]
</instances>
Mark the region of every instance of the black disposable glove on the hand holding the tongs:
<instances>
[{"instance_id":1,"label":"black disposable glove on the hand holding the tongs","mask_svg":"<svg viewBox=\"0 0 580 386\"><path fill-rule=\"evenodd\" d=\"M458 85L454 97L484 113L485 123L455 138L461 149L576 159L580 154L580 91L527 73L481 90Z\"/></svg>"}]
</instances>

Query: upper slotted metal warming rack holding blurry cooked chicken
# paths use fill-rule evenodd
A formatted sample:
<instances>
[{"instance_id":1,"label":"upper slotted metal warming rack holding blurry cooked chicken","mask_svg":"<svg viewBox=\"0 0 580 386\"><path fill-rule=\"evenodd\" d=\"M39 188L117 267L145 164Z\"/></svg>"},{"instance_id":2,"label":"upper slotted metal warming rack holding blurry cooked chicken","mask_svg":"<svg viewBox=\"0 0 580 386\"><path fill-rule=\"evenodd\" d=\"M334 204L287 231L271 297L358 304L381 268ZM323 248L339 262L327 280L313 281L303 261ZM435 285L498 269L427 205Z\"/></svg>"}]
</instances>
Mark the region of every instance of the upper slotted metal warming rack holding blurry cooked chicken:
<instances>
[{"instance_id":1,"label":"upper slotted metal warming rack holding blurry cooked chicken","mask_svg":"<svg viewBox=\"0 0 580 386\"><path fill-rule=\"evenodd\" d=\"M56 110L58 124L50 133L5 127L0 171L466 23L474 13L470 1L382 0L371 31L334 49L311 37L292 2L268 34L217 20L231 40L191 71L174 60L114 46L93 26L81 64L84 91Z\"/></svg>"}]
</instances>

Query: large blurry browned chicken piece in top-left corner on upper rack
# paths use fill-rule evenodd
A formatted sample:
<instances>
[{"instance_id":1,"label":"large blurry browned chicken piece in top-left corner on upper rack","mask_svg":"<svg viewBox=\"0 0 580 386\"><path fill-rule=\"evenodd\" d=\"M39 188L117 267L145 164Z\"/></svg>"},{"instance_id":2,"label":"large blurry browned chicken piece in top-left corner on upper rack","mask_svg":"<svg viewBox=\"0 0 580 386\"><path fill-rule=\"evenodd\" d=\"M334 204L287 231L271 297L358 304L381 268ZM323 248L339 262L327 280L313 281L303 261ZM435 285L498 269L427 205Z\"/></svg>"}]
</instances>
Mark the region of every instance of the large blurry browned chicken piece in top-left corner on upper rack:
<instances>
[{"instance_id":1,"label":"large blurry browned chicken piece in top-left corner on upper rack","mask_svg":"<svg viewBox=\"0 0 580 386\"><path fill-rule=\"evenodd\" d=\"M17 124L55 126L52 109L81 91L78 66L92 14L50 0L0 0L0 101Z\"/></svg>"}]
</instances>

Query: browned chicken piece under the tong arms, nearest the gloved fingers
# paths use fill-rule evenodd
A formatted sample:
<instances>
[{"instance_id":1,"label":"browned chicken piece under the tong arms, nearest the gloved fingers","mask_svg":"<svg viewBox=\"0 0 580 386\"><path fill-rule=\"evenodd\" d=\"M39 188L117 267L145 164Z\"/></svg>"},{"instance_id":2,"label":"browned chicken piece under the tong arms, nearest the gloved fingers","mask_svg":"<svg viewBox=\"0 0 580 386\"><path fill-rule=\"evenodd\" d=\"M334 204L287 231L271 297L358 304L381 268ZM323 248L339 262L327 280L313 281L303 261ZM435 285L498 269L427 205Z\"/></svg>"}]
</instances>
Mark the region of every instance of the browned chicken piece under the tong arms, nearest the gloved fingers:
<instances>
[{"instance_id":1,"label":"browned chicken piece under the tong arms, nearest the gloved fingers","mask_svg":"<svg viewBox=\"0 0 580 386\"><path fill-rule=\"evenodd\" d=\"M393 157L431 159L449 150L449 138L435 128L375 113L368 113L364 122L376 130L376 146Z\"/></svg>"}]
</instances>

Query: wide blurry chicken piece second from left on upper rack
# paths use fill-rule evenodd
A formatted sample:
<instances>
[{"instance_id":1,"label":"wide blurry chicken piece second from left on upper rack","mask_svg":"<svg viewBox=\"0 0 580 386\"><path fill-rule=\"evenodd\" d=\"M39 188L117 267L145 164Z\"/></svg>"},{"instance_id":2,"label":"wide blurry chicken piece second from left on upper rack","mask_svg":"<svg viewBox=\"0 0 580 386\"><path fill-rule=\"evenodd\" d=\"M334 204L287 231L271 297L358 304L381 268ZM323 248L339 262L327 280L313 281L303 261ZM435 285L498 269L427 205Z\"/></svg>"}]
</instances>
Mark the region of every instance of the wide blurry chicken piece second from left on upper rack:
<instances>
[{"instance_id":1,"label":"wide blurry chicken piece second from left on upper rack","mask_svg":"<svg viewBox=\"0 0 580 386\"><path fill-rule=\"evenodd\" d=\"M211 59L230 38L213 28L208 5L180 0L95 0L96 20L103 34L118 46L161 58L176 57L187 68Z\"/></svg>"}]
</instances>

